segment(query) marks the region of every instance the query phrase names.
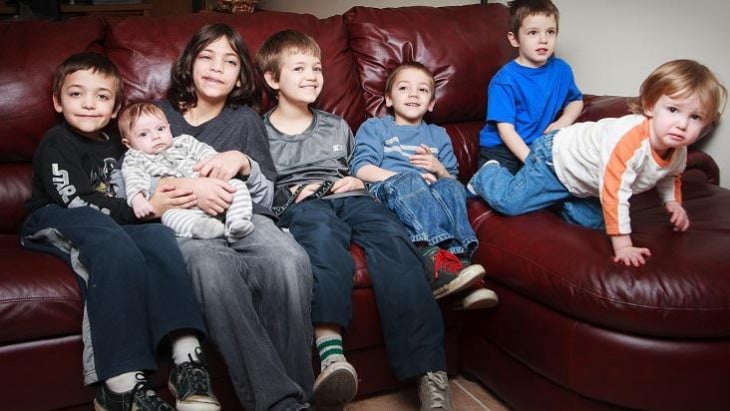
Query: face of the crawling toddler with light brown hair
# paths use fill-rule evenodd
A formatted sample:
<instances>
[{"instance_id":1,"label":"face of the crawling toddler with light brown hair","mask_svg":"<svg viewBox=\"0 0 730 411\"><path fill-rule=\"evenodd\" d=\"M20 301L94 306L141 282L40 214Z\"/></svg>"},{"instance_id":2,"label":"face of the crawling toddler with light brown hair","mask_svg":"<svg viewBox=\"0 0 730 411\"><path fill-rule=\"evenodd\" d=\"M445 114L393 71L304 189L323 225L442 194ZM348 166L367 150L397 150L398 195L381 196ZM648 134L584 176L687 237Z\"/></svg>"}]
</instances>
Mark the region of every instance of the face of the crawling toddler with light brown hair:
<instances>
[{"instance_id":1,"label":"face of the crawling toddler with light brown hair","mask_svg":"<svg viewBox=\"0 0 730 411\"><path fill-rule=\"evenodd\" d=\"M662 95L644 114L651 118L651 146L661 156L669 149L693 144L707 126L697 94L678 98Z\"/></svg>"}]
</instances>

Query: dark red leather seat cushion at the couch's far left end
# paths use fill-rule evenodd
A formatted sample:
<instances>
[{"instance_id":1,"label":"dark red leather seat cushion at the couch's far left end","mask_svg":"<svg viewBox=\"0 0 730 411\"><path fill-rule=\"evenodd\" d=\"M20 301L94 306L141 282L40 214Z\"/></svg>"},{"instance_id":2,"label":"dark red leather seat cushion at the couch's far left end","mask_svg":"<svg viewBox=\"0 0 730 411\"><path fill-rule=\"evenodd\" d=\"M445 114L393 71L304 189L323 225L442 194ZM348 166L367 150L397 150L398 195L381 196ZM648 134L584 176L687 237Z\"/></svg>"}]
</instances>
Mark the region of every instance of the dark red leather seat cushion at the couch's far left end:
<instances>
[{"instance_id":1,"label":"dark red leather seat cushion at the couch's far left end","mask_svg":"<svg viewBox=\"0 0 730 411\"><path fill-rule=\"evenodd\" d=\"M59 258L0 235L0 345L77 335L82 304L76 276Z\"/></svg>"}]
</instances>

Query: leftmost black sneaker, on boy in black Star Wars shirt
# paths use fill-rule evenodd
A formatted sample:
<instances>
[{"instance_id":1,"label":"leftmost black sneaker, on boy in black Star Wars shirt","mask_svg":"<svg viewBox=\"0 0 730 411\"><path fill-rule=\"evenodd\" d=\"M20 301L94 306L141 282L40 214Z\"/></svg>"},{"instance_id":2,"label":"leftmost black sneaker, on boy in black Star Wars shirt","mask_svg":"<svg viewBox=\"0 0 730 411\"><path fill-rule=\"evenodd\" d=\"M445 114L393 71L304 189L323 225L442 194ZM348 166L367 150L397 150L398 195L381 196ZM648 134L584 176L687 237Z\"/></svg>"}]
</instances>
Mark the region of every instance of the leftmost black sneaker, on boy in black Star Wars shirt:
<instances>
[{"instance_id":1,"label":"leftmost black sneaker, on boy in black Star Wars shirt","mask_svg":"<svg viewBox=\"0 0 730 411\"><path fill-rule=\"evenodd\" d=\"M142 373L135 375L137 384L131 391L117 394L102 383L94 398L96 411L174 411L160 398Z\"/></svg>"}]
</instances>

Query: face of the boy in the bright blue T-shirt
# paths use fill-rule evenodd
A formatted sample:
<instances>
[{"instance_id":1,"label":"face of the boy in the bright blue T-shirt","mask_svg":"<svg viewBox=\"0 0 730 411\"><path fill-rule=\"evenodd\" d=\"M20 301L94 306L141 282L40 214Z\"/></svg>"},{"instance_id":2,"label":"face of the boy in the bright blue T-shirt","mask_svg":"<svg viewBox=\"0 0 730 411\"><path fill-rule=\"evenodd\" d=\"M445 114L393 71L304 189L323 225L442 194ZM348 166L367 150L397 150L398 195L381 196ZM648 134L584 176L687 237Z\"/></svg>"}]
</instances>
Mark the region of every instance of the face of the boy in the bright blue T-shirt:
<instances>
[{"instance_id":1,"label":"face of the boy in the bright blue T-shirt","mask_svg":"<svg viewBox=\"0 0 730 411\"><path fill-rule=\"evenodd\" d=\"M517 62L525 67L542 67L555 51L558 23L555 16L532 14L525 17L519 32L507 33L512 47L519 48Z\"/></svg>"}]
</instances>

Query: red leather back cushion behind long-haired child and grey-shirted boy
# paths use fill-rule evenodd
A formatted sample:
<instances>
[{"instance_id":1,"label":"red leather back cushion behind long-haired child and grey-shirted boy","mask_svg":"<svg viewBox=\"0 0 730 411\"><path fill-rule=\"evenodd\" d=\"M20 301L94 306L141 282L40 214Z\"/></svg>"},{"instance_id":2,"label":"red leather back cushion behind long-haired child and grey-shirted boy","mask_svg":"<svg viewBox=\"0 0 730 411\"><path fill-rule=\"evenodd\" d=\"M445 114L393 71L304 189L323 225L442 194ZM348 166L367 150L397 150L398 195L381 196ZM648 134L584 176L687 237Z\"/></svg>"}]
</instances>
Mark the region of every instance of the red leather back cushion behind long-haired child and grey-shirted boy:
<instances>
[{"instance_id":1,"label":"red leather back cushion behind long-haired child and grey-shirted boy","mask_svg":"<svg viewBox=\"0 0 730 411\"><path fill-rule=\"evenodd\" d=\"M364 102L348 51L342 16L262 11L205 13L177 17L131 17L109 21L108 54L125 79L128 100L159 99L170 84L170 69L190 37L203 25L222 22L243 36L252 57L268 36L287 28L311 35L322 48L325 84L318 106L344 117L352 127L365 119Z\"/></svg>"}]
</instances>

